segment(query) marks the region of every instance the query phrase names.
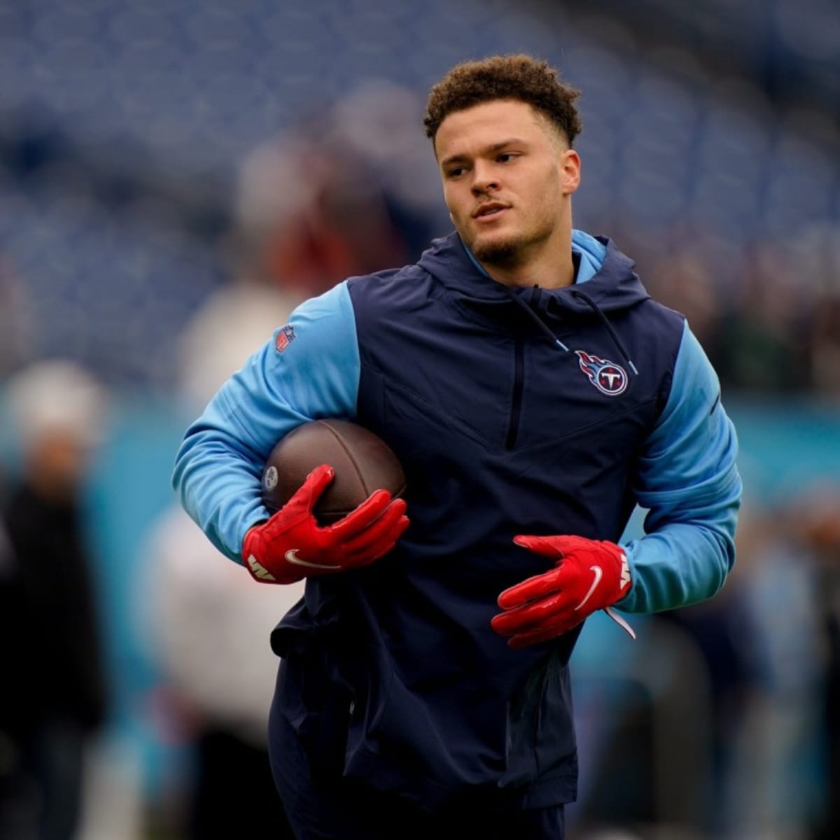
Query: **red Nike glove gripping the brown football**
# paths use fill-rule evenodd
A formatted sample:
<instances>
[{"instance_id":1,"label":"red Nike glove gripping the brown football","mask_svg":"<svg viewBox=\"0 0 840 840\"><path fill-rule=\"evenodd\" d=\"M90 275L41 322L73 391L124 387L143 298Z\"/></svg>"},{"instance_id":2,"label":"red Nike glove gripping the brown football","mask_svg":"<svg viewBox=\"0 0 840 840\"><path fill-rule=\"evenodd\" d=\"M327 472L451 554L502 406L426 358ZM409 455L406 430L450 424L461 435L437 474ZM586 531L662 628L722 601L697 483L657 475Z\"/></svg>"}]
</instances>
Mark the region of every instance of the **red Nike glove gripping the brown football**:
<instances>
[{"instance_id":1,"label":"red Nike glove gripping the brown football","mask_svg":"<svg viewBox=\"0 0 840 840\"><path fill-rule=\"evenodd\" d=\"M312 508L335 475L327 464L307 475L300 490L268 522L245 534L242 556L255 580L293 583L309 575L359 569L380 559L408 527L406 503L377 490L339 522L321 528Z\"/></svg>"}]
</instances>

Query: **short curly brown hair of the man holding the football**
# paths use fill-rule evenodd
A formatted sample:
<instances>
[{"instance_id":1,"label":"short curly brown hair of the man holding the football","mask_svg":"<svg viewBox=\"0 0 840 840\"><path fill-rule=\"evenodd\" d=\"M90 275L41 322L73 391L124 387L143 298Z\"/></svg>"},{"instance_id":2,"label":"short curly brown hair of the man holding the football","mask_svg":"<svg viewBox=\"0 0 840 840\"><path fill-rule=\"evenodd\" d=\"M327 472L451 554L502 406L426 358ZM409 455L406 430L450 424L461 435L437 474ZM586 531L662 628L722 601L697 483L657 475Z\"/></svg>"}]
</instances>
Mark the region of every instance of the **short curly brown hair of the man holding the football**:
<instances>
[{"instance_id":1,"label":"short curly brown hair of the man holding the football","mask_svg":"<svg viewBox=\"0 0 840 840\"><path fill-rule=\"evenodd\" d=\"M564 82L547 61L522 54L492 55L461 62L434 85L423 125L434 142L450 113L496 99L517 99L536 108L571 145L581 129L575 108L579 96L580 91Z\"/></svg>"}]
</instances>

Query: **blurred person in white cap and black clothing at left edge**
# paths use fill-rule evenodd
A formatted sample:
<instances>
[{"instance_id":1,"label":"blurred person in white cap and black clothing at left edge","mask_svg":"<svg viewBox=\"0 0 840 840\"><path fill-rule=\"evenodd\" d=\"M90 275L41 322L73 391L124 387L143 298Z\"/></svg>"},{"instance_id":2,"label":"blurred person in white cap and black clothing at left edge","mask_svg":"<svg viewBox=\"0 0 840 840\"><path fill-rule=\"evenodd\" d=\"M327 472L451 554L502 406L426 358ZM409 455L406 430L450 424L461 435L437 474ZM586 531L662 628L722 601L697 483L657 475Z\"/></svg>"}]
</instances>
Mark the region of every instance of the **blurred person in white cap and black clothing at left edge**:
<instances>
[{"instance_id":1,"label":"blurred person in white cap and black clothing at left edge","mask_svg":"<svg viewBox=\"0 0 840 840\"><path fill-rule=\"evenodd\" d=\"M107 708L80 509L105 395L87 371L44 361L20 371L7 396L23 466L3 510L13 554L0 581L0 836L70 840L85 748Z\"/></svg>"}]
</instances>

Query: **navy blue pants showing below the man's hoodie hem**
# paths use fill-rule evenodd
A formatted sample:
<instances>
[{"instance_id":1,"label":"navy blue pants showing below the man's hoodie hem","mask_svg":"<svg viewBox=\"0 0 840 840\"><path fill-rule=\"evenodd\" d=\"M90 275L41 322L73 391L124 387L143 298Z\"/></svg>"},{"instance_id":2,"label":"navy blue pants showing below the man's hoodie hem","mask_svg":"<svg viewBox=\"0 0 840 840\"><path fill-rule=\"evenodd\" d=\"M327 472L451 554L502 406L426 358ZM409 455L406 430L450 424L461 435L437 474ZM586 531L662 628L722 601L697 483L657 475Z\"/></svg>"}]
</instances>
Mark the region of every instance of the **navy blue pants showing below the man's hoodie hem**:
<instances>
[{"instance_id":1,"label":"navy blue pants showing below the man's hoodie hem","mask_svg":"<svg viewBox=\"0 0 840 840\"><path fill-rule=\"evenodd\" d=\"M307 755L277 703L282 670L271 707L269 756L297 840L435 840L461 833L481 840L563 840L563 806L511 811L470 806L430 815L338 774L313 779Z\"/></svg>"}]
</instances>

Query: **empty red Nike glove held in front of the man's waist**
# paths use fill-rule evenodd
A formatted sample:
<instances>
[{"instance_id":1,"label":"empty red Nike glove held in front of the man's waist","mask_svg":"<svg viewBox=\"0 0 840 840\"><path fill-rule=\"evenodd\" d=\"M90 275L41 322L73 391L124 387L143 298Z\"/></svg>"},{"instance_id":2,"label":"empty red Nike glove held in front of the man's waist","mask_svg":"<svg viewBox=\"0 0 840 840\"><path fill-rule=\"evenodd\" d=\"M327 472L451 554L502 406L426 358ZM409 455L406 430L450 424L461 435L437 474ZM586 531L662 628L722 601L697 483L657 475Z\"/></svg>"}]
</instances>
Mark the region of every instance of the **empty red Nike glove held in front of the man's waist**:
<instances>
[{"instance_id":1,"label":"empty red Nike glove held in front of the man's waist","mask_svg":"<svg viewBox=\"0 0 840 840\"><path fill-rule=\"evenodd\" d=\"M510 636L511 648L545 642L568 633L586 617L619 601L630 590L627 554L615 543L583 537L526 537L513 542L543 557L557 559L556 568L523 580L499 596L500 612L491 627ZM627 633L627 622L607 609Z\"/></svg>"}]
</instances>

